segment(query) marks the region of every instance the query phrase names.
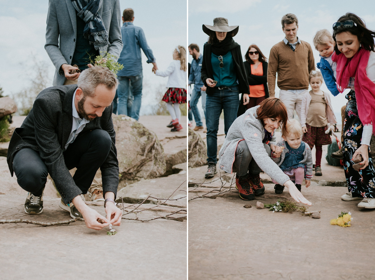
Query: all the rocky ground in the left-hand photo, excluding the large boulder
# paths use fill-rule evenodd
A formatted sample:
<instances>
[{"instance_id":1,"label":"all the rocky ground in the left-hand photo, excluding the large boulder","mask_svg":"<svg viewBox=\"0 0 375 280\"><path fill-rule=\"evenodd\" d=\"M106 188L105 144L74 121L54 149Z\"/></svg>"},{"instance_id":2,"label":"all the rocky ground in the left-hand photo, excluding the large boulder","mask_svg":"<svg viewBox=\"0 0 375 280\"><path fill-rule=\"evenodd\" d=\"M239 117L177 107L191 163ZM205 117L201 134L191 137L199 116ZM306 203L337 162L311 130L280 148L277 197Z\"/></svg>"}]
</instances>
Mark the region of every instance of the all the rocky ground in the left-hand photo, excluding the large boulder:
<instances>
[{"instance_id":1,"label":"all the rocky ground in the left-hand photo, excluding the large boulder","mask_svg":"<svg viewBox=\"0 0 375 280\"><path fill-rule=\"evenodd\" d=\"M13 117L12 126L20 126L23 118ZM180 132L170 132L165 127L169 121L169 116L139 119L156 133L169 165L173 165L173 174L141 180L118 190L118 197L124 201L118 206L125 207L125 215L121 226L114 227L116 235L107 235L108 229L88 229L80 221L47 227L1 224L1 279L186 279L187 222L182 217L186 216L187 206L187 130L184 127ZM186 123L186 117L182 121ZM7 143L0 145L0 151L6 148ZM183 153L185 161L174 164L181 162ZM0 220L50 223L71 219L68 212L58 207L60 198L51 181L46 185L43 213L31 216L24 213L27 193L18 186L17 178L10 177L6 158L1 156L0 179ZM137 210L131 206L143 200ZM105 215L102 203L86 203ZM167 215L178 219L155 219Z\"/></svg>"}]
</instances>

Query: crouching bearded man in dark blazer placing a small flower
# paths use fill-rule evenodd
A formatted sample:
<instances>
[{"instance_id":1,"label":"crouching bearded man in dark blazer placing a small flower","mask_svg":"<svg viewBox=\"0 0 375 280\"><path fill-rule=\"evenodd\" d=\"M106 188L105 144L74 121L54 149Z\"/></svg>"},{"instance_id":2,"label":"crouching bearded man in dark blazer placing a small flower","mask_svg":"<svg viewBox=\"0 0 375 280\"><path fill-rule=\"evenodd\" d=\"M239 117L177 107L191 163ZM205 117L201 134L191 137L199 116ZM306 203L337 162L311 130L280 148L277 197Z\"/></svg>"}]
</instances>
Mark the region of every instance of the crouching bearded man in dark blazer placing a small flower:
<instances>
[{"instance_id":1,"label":"crouching bearded man in dark blazer placing a small flower","mask_svg":"<svg viewBox=\"0 0 375 280\"><path fill-rule=\"evenodd\" d=\"M33 108L10 139L7 163L11 175L28 192L27 214L43 211L48 173L62 199L59 206L86 226L102 229L120 225L121 211L114 199L118 187L118 160L112 122L118 81L105 67L84 70L77 85L50 87L36 97ZM69 170L77 168L74 177ZM102 171L107 218L81 198L98 168ZM97 219L104 220L99 223Z\"/></svg>"}]
</instances>

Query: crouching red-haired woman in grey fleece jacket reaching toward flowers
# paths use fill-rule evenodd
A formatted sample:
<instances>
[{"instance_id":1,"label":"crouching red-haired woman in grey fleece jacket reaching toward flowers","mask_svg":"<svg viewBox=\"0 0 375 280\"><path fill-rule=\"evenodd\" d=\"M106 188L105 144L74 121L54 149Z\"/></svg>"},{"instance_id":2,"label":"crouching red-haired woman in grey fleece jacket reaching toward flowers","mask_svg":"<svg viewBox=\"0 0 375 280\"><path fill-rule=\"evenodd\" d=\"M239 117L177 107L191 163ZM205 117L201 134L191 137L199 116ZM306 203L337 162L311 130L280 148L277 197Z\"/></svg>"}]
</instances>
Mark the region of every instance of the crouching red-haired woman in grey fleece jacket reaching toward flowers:
<instances>
[{"instance_id":1,"label":"crouching red-haired woman in grey fleece jacket reaching toward flowers","mask_svg":"<svg viewBox=\"0 0 375 280\"><path fill-rule=\"evenodd\" d=\"M259 117L258 117L259 116ZM279 184L289 189L291 197L311 205L297 187L270 158L275 152L276 137L273 132L280 123L287 122L287 110L278 98L268 98L259 106L248 109L231 125L219 151L220 169L236 172L236 187L241 199L252 200L264 193L259 173L266 172Z\"/></svg>"}]
</instances>

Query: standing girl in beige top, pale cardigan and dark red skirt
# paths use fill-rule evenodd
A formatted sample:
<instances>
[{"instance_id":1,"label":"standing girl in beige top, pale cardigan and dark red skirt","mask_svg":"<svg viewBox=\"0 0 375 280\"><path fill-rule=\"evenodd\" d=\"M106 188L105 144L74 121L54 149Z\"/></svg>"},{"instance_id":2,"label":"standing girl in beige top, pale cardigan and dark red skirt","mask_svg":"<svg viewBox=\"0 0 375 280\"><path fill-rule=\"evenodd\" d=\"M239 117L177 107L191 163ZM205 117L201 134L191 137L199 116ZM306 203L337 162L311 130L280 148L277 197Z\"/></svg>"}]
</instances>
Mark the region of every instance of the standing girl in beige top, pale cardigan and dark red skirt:
<instances>
[{"instance_id":1,"label":"standing girl in beige top, pale cardigan and dark red skirt","mask_svg":"<svg viewBox=\"0 0 375 280\"><path fill-rule=\"evenodd\" d=\"M320 90L323 76L319 71L311 71L309 74L311 91L305 93L302 98L301 125L303 131L302 140L311 150L315 145L315 175L321 176L322 145L332 143L328 125L336 123L329 93Z\"/></svg>"}]
</instances>

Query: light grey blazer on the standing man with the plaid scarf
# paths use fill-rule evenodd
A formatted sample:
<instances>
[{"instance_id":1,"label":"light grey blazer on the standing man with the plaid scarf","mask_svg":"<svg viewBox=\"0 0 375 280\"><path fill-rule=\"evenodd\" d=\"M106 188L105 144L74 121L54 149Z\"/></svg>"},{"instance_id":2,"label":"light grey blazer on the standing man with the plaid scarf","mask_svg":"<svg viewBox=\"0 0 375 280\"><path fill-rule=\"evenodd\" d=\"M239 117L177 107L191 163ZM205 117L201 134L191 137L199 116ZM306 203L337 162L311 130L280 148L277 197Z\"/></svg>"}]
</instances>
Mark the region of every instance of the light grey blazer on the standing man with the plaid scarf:
<instances>
[{"instance_id":1,"label":"light grey blazer on the standing man with the plaid scarf","mask_svg":"<svg viewBox=\"0 0 375 280\"><path fill-rule=\"evenodd\" d=\"M123 46L119 0L104 0L99 14L102 16L110 41L108 49L99 51L107 51L119 57ZM63 85L65 82L65 75L60 67L72 63L76 38L77 16L72 0L49 0L44 48L56 68L53 85Z\"/></svg>"}]
</instances>

